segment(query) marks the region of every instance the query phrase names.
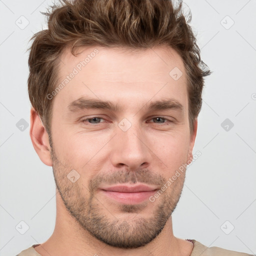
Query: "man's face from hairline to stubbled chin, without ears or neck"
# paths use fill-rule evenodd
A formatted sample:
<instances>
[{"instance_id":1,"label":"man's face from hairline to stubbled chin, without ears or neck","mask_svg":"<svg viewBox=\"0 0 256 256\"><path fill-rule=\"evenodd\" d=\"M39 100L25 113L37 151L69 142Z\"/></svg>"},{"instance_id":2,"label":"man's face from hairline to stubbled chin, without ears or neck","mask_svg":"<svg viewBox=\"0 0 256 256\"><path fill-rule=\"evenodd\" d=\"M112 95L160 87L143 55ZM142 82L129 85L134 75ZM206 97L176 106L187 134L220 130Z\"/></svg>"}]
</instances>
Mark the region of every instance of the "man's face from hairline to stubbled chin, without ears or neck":
<instances>
[{"instance_id":1,"label":"man's face from hairline to stubbled chin, without ears or neck","mask_svg":"<svg viewBox=\"0 0 256 256\"><path fill-rule=\"evenodd\" d=\"M185 173L154 201L149 197L191 157L185 69L165 47L138 53L91 46L79 52L60 57L58 81L64 86L52 99L55 182L84 230L112 246L142 246L163 229ZM183 73L178 79L180 72L169 74L176 67ZM117 109L84 108L81 98L109 101ZM167 108L151 105L166 100Z\"/></svg>"}]
</instances>

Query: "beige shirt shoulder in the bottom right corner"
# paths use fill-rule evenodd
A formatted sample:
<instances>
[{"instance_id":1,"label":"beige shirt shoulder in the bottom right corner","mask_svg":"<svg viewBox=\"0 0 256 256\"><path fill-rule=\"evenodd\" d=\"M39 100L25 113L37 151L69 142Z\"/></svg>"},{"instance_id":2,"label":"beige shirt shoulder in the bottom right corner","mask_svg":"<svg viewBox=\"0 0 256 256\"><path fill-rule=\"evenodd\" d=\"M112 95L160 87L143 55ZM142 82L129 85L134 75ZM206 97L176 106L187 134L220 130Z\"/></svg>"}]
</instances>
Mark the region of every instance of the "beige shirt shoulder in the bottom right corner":
<instances>
[{"instance_id":1,"label":"beige shirt shoulder in the bottom right corner","mask_svg":"<svg viewBox=\"0 0 256 256\"><path fill-rule=\"evenodd\" d=\"M252 254L247 254L243 252L238 252L234 250L227 250L220 247L212 246L207 247L203 245L202 243L194 240L189 239L194 244L193 250L190 254L190 256L250 256Z\"/></svg>"}]
</instances>

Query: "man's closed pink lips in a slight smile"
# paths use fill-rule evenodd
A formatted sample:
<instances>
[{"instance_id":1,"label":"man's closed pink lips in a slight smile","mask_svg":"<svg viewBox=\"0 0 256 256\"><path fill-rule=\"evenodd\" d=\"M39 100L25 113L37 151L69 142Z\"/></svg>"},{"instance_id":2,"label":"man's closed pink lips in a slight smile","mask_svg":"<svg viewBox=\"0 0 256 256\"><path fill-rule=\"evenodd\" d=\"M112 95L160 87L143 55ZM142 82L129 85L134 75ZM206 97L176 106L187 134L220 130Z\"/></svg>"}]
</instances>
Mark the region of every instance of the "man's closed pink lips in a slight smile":
<instances>
[{"instance_id":1,"label":"man's closed pink lips in a slight smile","mask_svg":"<svg viewBox=\"0 0 256 256\"><path fill-rule=\"evenodd\" d=\"M157 187L145 184L138 185L114 185L109 187L101 187L102 193L119 203L137 204L148 199L157 191Z\"/></svg>"}]
</instances>

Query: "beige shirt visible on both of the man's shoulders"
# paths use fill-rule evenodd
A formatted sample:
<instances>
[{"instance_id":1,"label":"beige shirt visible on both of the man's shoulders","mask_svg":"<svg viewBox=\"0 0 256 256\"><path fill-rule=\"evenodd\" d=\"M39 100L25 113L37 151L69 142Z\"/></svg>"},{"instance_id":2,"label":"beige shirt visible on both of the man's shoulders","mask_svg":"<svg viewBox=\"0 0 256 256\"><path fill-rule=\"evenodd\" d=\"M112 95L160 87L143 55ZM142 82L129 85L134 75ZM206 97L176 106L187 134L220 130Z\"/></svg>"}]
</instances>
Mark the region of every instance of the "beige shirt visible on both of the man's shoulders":
<instances>
[{"instance_id":1,"label":"beige shirt visible on both of the man's shoulders","mask_svg":"<svg viewBox=\"0 0 256 256\"><path fill-rule=\"evenodd\" d=\"M226 250L216 246L207 247L194 239L186 239L186 240L191 241L194 244L193 250L190 256L253 256L253 254L247 254L247 253L237 252L233 250ZM39 244L33 244L31 247L25 250L22 250L16 256L41 256L33 248L37 245Z\"/></svg>"}]
</instances>

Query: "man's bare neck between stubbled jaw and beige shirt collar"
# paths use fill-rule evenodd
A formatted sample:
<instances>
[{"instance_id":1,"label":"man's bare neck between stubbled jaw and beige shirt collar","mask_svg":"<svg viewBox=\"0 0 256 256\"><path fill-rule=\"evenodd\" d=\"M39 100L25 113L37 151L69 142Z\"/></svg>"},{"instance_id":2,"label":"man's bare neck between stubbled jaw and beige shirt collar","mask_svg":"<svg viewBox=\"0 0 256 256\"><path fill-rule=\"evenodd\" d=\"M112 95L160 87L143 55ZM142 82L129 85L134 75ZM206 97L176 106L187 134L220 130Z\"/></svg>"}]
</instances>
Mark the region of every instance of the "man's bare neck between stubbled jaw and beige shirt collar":
<instances>
[{"instance_id":1,"label":"man's bare neck between stubbled jaw and beige shirt collar","mask_svg":"<svg viewBox=\"0 0 256 256\"><path fill-rule=\"evenodd\" d=\"M189 256L193 244L173 235L171 216L162 231L148 244L132 249L107 245L84 230L66 210L59 193L56 193L56 223L52 235L34 247L41 256L60 255L180 255Z\"/></svg>"}]
</instances>

